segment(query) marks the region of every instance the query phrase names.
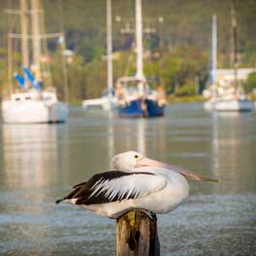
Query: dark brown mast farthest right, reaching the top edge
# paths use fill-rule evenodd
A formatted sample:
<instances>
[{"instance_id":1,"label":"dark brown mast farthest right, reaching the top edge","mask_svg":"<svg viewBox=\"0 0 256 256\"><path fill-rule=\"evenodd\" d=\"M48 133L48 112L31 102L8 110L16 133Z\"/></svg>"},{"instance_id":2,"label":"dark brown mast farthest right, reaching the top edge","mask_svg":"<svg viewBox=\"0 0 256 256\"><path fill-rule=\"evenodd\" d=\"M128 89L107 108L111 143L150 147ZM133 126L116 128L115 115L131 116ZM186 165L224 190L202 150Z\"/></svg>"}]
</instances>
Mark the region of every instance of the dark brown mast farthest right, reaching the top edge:
<instances>
[{"instance_id":1,"label":"dark brown mast farthest right, reaching the top edge","mask_svg":"<svg viewBox=\"0 0 256 256\"><path fill-rule=\"evenodd\" d=\"M238 29L237 29L237 0L232 1L232 42L233 42L233 68L234 86L238 88Z\"/></svg>"}]
</instances>

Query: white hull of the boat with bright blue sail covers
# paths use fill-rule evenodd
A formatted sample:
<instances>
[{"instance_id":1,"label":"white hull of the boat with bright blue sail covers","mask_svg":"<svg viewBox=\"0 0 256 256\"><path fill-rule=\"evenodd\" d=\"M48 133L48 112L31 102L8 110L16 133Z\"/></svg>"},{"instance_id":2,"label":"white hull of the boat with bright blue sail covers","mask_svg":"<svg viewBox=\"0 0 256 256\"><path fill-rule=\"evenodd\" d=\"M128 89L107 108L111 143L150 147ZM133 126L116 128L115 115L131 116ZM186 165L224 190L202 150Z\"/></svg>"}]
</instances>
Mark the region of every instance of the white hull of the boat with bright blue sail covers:
<instances>
[{"instance_id":1,"label":"white hull of the boat with bright blue sail covers","mask_svg":"<svg viewBox=\"0 0 256 256\"><path fill-rule=\"evenodd\" d=\"M59 123L65 122L67 116L68 108L60 102L49 106L43 101L2 103L2 118L5 123Z\"/></svg>"}]
</instances>

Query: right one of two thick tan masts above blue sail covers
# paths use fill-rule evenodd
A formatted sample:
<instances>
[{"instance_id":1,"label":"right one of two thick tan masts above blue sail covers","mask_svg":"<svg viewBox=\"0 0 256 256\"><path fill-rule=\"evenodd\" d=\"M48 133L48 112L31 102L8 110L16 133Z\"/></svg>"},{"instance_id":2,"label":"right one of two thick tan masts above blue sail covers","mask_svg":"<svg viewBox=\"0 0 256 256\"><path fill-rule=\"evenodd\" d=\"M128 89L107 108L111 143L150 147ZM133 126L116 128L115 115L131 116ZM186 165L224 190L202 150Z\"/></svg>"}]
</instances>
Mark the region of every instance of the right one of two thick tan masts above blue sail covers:
<instances>
[{"instance_id":1,"label":"right one of two thick tan masts above blue sail covers","mask_svg":"<svg viewBox=\"0 0 256 256\"><path fill-rule=\"evenodd\" d=\"M39 23L39 0L31 0L31 18L32 18L32 45L33 45L33 64L35 68L35 79L41 80L41 38L40 38L40 23Z\"/></svg>"}]
</instances>

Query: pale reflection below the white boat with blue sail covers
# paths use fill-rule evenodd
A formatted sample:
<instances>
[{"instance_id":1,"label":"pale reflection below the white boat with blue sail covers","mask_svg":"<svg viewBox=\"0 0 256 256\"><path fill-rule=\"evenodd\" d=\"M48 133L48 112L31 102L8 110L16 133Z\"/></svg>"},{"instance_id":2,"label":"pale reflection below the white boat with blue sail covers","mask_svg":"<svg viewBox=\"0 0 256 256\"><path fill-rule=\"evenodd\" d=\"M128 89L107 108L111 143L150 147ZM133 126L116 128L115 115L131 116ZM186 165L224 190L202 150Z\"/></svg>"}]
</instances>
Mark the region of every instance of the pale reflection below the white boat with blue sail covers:
<instances>
[{"instance_id":1,"label":"pale reflection below the white boat with blue sail covers","mask_svg":"<svg viewBox=\"0 0 256 256\"><path fill-rule=\"evenodd\" d=\"M6 186L48 185L57 162L56 126L3 125L2 144Z\"/></svg>"}]
</instances>

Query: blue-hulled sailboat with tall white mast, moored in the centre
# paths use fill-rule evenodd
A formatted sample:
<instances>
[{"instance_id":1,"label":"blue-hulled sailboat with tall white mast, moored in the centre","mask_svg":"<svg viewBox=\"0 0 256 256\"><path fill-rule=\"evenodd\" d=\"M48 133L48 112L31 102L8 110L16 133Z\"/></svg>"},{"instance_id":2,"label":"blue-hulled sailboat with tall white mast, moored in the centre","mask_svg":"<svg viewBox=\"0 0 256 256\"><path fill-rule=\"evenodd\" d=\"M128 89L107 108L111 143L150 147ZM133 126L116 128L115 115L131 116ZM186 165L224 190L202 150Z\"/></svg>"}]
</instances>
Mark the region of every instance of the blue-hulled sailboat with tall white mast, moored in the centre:
<instances>
[{"instance_id":1,"label":"blue-hulled sailboat with tall white mast, moored in the centre","mask_svg":"<svg viewBox=\"0 0 256 256\"><path fill-rule=\"evenodd\" d=\"M163 116L166 100L162 87L150 89L144 77L142 0L136 0L137 74L116 81L117 112L123 117ZM131 86L135 85L135 86Z\"/></svg>"}]
</instances>

